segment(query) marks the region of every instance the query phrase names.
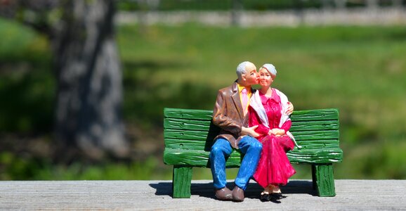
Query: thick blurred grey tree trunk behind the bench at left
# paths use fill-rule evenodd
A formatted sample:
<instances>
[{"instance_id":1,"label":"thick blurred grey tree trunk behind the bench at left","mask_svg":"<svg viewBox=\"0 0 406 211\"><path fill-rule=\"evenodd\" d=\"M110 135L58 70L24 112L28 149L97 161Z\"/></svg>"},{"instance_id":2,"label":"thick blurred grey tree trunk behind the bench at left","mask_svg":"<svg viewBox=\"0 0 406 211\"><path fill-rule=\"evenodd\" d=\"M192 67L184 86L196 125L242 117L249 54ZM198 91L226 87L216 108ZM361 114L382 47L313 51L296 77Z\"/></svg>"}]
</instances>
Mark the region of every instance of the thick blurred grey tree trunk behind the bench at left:
<instances>
[{"instance_id":1,"label":"thick blurred grey tree trunk behind the bench at left","mask_svg":"<svg viewBox=\"0 0 406 211\"><path fill-rule=\"evenodd\" d=\"M121 119L114 0L65 1L63 8L63 27L52 40L60 152L79 148L91 158L102 158L105 152L123 157L129 147Z\"/></svg>"}]
</instances>

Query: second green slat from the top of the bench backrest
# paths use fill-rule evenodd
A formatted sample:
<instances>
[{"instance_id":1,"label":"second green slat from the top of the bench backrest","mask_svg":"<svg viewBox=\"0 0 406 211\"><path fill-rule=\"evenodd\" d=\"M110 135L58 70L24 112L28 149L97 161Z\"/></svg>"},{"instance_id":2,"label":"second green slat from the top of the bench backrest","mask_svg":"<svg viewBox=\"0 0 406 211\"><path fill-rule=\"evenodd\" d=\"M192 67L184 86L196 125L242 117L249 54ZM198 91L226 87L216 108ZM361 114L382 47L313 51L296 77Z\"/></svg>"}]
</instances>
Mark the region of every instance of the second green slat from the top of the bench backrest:
<instances>
[{"instance_id":1,"label":"second green slat from the top of the bench backrest","mask_svg":"<svg viewBox=\"0 0 406 211\"><path fill-rule=\"evenodd\" d=\"M216 127L211 120L187 120L176 118L165 118L165 129L182 129L182 130L202 130L207 131L211 127ZM292 122L291 132L306 130L325 130L339 129L339 120L320 120L320 121L301 121Z\"/></svg>"}]
</instances>

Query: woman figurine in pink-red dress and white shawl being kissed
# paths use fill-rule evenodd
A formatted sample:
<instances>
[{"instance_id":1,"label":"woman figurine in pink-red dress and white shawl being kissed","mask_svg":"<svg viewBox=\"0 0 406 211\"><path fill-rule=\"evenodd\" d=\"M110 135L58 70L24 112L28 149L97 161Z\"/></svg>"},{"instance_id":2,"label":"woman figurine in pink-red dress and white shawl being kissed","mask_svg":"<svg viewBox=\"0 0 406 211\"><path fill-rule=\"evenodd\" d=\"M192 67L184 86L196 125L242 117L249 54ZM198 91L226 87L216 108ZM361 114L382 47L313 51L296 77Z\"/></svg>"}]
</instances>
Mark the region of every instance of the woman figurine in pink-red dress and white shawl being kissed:
<instances>
[{"instance_id":1,"label":"woman figurine in pink-red dress and white shawl being kissed","mask_svg":"<svg viewBox=\"0 0 406 211\"><path fill-rule=\"evenodd\" d=\"M256 139L263 145L253 176L264 188L262 201L282 198L280 186L286 185L287 179L296 173L286 155L296 144L289 132L292 121L286 114L289 101L282 92L270 87L276 73L275 66L271 64L265 64L259 69L261 89L249 101L249 127L258 125L255 132L260 136Z\"/></svg>"}]
</instances>

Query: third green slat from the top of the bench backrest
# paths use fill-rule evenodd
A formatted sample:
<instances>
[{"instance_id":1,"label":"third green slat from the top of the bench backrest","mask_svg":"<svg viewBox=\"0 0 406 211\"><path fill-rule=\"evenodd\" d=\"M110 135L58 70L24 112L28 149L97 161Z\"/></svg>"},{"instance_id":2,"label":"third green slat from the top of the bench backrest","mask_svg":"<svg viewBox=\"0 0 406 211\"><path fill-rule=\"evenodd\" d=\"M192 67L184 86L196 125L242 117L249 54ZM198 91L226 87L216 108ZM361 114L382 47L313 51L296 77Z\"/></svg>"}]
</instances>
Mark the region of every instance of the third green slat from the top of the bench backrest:
<instances>
[{"instance_id":1,"label":"third green slat from the top of the bench backrest","mask_svg":"<svg viewBox=\"0 0 406 211\"><path fill-rule=\"evenodd\" d=\"M212 141L218 132L214 131L192 131L179 129L165 129L164 139L187 139L198 141ZM339 139L339 131L300 131L292 132L296 140L319 140L319 139Z\"/></svg>"}]
</instances>

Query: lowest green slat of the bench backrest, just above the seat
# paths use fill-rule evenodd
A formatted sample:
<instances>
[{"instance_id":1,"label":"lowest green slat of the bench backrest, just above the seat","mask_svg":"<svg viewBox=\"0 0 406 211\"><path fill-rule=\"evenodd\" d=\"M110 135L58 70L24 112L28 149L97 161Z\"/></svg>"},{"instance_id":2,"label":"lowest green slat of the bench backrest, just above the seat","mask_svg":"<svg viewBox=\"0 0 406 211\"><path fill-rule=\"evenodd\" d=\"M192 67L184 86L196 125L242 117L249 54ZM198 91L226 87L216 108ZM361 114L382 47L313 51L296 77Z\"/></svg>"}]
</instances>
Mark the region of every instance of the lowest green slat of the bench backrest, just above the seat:
<instances>
[{"instance_id":1,"label":"lowest green slat of the bench backrest, just above the seat","mask_svg":"<svg viewBox=\"0 0 406 211\"><path fill-rule=\"evenodd\" d=\"M322 139L322 140L308 140L298 141L299 145L303 148L339 148L339 141L337 139ZM183 150L201 150L210 151L211 142L196 141L188 139L165 139L166 148L177 148Z\"/></svg>"}]
</instances>

